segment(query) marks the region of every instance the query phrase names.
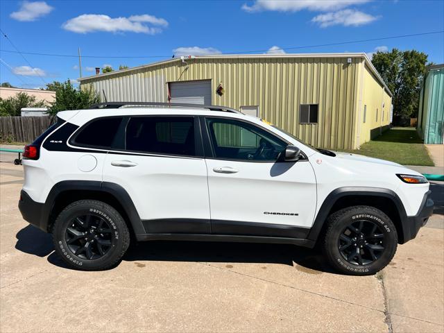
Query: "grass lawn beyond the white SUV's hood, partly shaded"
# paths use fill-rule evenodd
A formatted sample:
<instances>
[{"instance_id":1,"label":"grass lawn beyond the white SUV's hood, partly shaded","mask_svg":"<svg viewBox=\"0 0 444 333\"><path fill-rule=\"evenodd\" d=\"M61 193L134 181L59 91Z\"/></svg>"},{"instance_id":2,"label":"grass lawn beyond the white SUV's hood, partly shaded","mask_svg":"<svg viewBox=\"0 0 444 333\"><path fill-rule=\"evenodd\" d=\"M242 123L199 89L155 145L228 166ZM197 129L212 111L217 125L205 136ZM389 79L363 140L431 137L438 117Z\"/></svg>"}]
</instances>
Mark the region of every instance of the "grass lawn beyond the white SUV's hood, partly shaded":
<instances>
[{"instance_id":1,"label":"grass lawn beyond the white SUV's hood, partly shaded","mask_svg":"<svg viewBox=\"0 0 444 333\"><path fill-rule=\"evenodd\" d=\"M427 148L416 133L416 128L391 128L381 136L361 145L361 149L348 152L381 158L403 165L434 166Z\"/></svg>"}]
</instances>

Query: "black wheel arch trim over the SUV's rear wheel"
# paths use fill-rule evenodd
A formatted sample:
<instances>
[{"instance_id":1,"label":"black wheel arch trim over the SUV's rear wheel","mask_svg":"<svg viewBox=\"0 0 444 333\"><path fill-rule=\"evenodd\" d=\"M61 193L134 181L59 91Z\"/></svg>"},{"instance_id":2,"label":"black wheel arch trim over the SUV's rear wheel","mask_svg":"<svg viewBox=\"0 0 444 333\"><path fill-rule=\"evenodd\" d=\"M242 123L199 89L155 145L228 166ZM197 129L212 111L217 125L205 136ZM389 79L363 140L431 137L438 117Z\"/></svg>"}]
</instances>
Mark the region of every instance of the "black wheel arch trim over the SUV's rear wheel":
<instances>
[{"instance_id":1,"label":"black wheel arch trim over the SUV's rear wheel","mask_svg":"<svg viewBox=\"0 0 444 333\"><path fill-rule=\"evenodd\" d=\"M51 211L53 210L58 196L60 196L60 194L65 191L73 190L85 191L85 198L87 198L87 191L104 192L106 194L114 196L114 198L116 198L123 207L123 210L125 210L126 215L128 216L128 219L130 219L130 223L133 226L134 232L136 234L143 234L145 232L133 200L131 200L126 190L123 189L123 187L121 187L120 185L117 185L113 182L100 182L93 180L65 180L54 185L49 192L49 195L46 198L46 202L44 203L44 207L42 209L42 216L40 218L40 229L46 232L49 231L49 216L51 215Z\"/></svg>"}]
</instances>

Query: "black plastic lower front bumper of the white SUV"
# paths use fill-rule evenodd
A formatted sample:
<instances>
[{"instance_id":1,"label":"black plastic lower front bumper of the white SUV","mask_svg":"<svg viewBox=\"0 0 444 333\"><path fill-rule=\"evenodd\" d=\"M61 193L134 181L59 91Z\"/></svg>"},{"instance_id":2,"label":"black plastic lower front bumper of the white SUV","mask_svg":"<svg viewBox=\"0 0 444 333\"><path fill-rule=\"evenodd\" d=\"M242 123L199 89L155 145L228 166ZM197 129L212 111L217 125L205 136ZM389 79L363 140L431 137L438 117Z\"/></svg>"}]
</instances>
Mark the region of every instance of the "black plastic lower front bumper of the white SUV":
<instances>
[{"instance_id":1,"label":"black plastic lower front bumper of the white SUV","mask_svg":"<svg viewBox=\"0 0 444 333\"><path fill-rule=\"evenodd\" d=\"M415 216L405 216L405 218L402 219L403 238L401 244L415 238L420 228L422 228L429 220L429 217L432 216L434 202L430 198L430 194L432 194L432 191L427 191L424 194L418 214Z\"/></svg>"}]
</instances>

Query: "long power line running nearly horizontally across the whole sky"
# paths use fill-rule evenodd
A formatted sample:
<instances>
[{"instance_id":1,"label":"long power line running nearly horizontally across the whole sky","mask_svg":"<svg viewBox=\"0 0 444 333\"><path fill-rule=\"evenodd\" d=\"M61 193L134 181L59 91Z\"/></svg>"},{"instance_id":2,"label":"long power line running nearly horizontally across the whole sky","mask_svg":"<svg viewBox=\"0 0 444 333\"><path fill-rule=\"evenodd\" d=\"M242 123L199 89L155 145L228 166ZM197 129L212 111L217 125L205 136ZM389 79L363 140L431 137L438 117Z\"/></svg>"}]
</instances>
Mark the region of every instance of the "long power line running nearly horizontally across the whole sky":
<instances>
[{"instance_id":1,"label":"long power line running nearly horizontally across the whole sky","mask_svg":"<svg viewBox=\"0 0 444 333\"><path fill-rule=\"evenodd\" d=\"M389 37L378 37L378 38L370 38L367 40L350 40L346 42L334 42L327 44L315 44L315 45L305 45L305 46L289 46L276 50L296 50L296 49L311 49L315 47L323 47L323 46L334 46L334 45L343 45L343 44L355 44L355 43L363 43L363 42L375 42L377 40L393 40L397 38L406 38L406 37L415 37L415 36L423 36L423 35L433 35L437 33L444 33L444 31L431 31L428 33L412 33L410 35L397 35L397 36L389 36ZM1 52L9 52L9 53L24 53L30 54L33 56L53 56L53 57L68 57L68 58L78 58L78 55L70 55L70 54L57 54L57 53L38 53L38 52L17 52L11 50L3 50L0 49ZM234 51L234 52L224 52L224 53L215 53L215 54L207 54L207 56L218 56L223 54L241 54L241 53L259 53L266 52L268 49L255 50L255 51ZM171 55L167 56L82 56L82 58L170 58Z\"/></svg>"}]
</instances>

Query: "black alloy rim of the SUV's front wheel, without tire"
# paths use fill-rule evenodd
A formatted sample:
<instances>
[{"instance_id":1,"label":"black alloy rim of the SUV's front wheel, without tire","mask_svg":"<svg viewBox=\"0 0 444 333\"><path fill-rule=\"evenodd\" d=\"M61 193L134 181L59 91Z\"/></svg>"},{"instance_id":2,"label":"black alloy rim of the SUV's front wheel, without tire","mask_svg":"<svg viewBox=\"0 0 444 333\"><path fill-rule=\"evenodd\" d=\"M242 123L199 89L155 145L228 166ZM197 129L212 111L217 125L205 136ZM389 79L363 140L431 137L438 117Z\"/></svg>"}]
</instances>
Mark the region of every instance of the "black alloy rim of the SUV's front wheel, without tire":
<instances>
[{"instance_id":1,"label":"black alloy rim of the SUV's front wheel, without tire","mask_svg":"<svg viewBox=\"0 0 444 333\"><path fill-rule=\"evenodd\" d=\"M352 221L339 235L339 253L350 264L372 264L384 253L384 238L384 232L376 222Z\"/></svg>"}]
</instances>

